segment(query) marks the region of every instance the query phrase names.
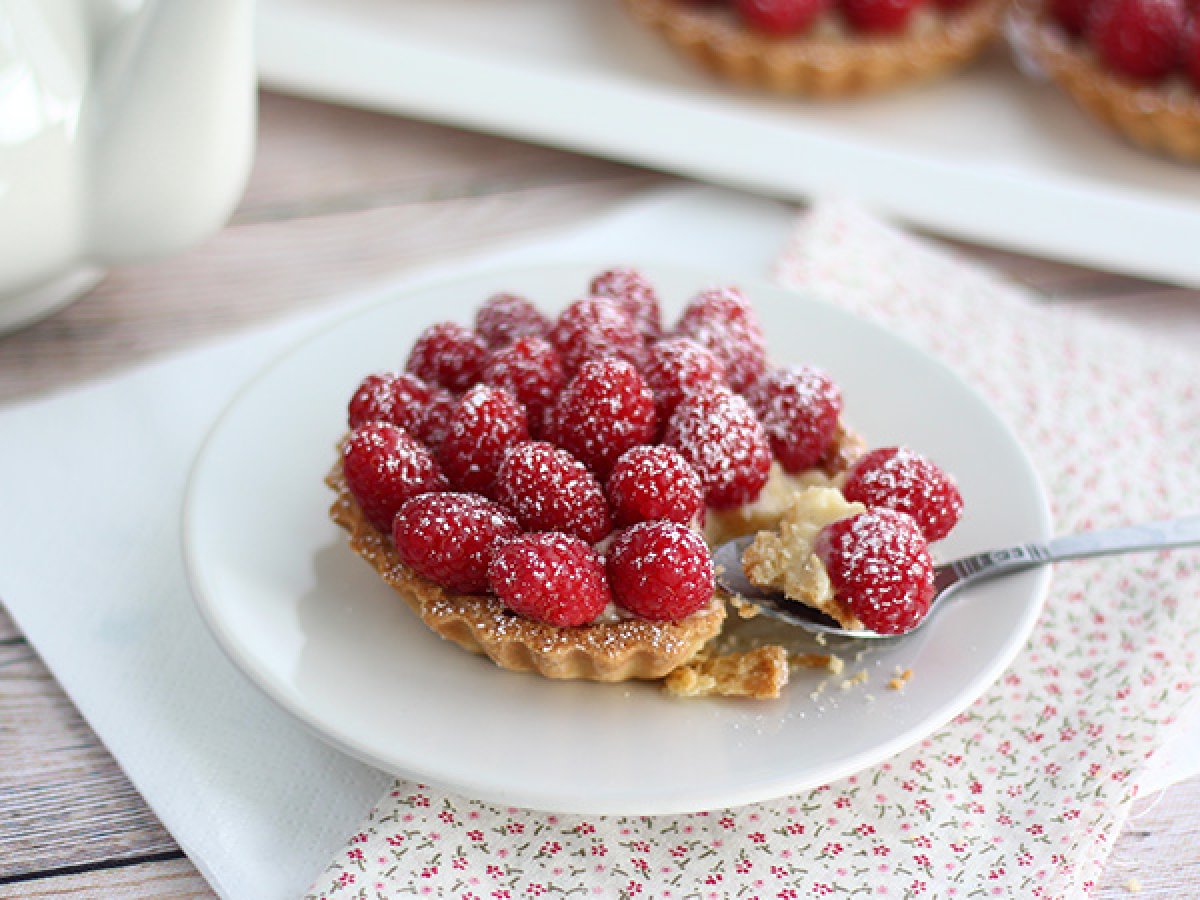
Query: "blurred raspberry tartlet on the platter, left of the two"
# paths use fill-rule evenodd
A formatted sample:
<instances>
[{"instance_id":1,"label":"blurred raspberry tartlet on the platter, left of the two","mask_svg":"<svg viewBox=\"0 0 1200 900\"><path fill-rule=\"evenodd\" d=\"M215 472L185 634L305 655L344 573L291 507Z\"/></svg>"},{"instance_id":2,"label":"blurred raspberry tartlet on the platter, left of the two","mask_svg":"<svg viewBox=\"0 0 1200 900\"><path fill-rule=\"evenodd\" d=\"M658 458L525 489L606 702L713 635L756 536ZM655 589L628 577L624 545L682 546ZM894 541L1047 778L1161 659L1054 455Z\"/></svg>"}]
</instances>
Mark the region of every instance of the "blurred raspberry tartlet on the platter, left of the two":
<instances>
[{"instance_id":1,"label":"blurred raspberry tartlet on the platter, left of the two","mask_svg":"<svg viewBox=\"0 0 1200 900\"><path fill-rule=\"evenodd\" d=\"M877 94L949 73L997 36L1006 0L625 0L677 50L780 94Z\"/></svg>"}]
</instances>

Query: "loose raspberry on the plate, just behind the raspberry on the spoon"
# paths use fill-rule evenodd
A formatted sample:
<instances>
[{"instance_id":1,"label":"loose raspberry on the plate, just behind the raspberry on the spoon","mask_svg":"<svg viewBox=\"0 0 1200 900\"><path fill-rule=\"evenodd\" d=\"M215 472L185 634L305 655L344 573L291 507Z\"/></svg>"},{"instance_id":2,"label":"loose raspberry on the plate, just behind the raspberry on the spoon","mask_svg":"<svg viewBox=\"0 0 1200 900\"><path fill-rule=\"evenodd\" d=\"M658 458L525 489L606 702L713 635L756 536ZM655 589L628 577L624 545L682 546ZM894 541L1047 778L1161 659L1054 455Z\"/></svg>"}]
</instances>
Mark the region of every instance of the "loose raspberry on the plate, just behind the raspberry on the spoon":
<instances>
[{"instance_id":1,"label":"loose raspberry on the plate, just behind the raspberry on the spoon","mask_svg":"<svg viewBox=\"0 0 1200 900\"><path fill-rule=\"evenodd\" d=\"M868 452L851 468L841 492L847 500L907 512L928 541L949 534L962 515L962 494L954 479L902 446Z\"/></svg>"}]
</instances>

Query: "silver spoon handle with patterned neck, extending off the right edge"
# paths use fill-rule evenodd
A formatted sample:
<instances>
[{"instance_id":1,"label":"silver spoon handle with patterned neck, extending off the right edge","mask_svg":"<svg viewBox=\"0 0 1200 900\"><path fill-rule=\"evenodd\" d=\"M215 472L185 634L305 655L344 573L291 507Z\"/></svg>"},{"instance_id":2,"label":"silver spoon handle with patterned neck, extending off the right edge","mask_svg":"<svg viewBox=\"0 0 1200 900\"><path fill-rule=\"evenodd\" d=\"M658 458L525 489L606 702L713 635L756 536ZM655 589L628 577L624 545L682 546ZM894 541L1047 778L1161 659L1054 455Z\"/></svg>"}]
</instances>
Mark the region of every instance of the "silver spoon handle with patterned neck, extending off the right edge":
<instances>
[{"instance_id":1,"label":"silver spoon handle with patterned neck, extending off the right edge","mask_svg":"<svg viewBox=\"0 0 1200 900\"><path fill-rule=\"evenodd\" d=\"M1200 545L1200 515L1051 538L955 559L938 566L938 588L1032 569L1044 563Z\"/></svg>"}]
</instances>

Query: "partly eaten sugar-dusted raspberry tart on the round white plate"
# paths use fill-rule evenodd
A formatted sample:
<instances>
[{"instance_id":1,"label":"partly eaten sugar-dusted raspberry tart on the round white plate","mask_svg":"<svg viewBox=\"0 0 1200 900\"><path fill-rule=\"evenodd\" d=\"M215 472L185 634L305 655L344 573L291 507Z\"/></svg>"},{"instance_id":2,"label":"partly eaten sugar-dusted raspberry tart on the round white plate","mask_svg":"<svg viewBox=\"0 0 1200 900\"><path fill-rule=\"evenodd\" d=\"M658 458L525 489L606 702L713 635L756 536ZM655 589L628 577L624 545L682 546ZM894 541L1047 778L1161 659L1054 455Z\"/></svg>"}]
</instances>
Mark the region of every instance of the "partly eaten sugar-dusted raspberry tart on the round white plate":
<instances>
[{"instance_id":1,"label":"partly eaten sugar-dusted raspberry tart on the round white plate","mask_svg":"<svg viewBox=\"0 0 1200 900\"><path fill-rule=\"evenodd\" d=\"M431 630L504 668L778 696L779 647L712 650L728 598L710 547L775 528L804 488L841 497L864 451L841 394L775 367L734 288L673 325L634 270L581 289L554 318L497 294L474 329L426 329L407 372L367 374L330 515ZM924 510L874 452L865 504Z\"/></svg>"}]
</instances>

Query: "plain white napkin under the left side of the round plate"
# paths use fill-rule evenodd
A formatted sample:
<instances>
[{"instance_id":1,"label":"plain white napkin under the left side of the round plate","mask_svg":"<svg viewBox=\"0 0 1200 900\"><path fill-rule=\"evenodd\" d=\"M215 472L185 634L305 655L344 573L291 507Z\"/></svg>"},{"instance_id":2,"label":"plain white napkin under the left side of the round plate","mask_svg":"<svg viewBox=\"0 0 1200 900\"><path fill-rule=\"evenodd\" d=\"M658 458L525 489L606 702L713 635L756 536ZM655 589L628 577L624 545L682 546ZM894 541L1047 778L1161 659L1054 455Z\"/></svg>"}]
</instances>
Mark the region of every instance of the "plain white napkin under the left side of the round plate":
<instances>
[{"instance_id":1,"label":"plain white napkin under the left side of the round plate","mask_svg":"<svg viewBox=\"0 0 1200 900\"><path fill-rule=\"evenodd\" d=\"M670 190L424 277L647 258L761 277L791 220L781 204ZM277 710L210 640L180 552L188 468L242 382L326 318L397 288L0 409L0 600L222 896L301 894L391 780Z\"/></svg>"}]
</instances>

